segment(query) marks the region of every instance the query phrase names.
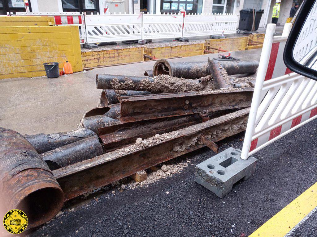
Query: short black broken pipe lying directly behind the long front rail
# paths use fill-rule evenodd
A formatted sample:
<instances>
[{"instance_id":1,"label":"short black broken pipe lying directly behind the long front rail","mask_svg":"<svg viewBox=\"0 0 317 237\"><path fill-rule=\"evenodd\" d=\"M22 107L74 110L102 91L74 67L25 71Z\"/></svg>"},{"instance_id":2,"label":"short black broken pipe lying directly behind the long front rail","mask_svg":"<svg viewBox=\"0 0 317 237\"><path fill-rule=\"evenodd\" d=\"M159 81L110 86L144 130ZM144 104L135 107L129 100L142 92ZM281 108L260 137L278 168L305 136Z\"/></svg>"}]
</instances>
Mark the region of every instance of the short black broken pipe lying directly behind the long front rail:
<instances>
[{"instance_id":1,"label":"short black broken pipe lying directly behind the long front rail","mask_svg":"<svg viewBox=\"0 0 317 237\"><path fill-rule=\"evenodd\" d=\"M102 154L102 146L95 135L42 153L41 157L51 170L55 170Z\"/></svg>"}]
</instances>

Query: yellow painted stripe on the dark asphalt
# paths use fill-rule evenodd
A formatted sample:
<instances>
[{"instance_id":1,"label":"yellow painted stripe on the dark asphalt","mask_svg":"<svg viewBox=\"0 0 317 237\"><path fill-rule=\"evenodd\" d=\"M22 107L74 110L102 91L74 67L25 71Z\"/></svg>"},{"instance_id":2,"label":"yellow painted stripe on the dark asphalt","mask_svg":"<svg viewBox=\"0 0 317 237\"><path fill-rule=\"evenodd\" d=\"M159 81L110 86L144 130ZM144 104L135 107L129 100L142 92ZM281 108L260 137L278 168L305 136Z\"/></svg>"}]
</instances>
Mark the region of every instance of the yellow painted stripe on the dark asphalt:
<instances>
[{"instance_id":1,"label":"yellow painted stripe on the dark asphalt","mask_svg":"<svg viewBox=\"0 0 317 237\"><path fill-rule=\"evenodd\" d=\"M317 206L317 183L303 192L249 237L283 237Z\"/></svg>"}]
</instances>

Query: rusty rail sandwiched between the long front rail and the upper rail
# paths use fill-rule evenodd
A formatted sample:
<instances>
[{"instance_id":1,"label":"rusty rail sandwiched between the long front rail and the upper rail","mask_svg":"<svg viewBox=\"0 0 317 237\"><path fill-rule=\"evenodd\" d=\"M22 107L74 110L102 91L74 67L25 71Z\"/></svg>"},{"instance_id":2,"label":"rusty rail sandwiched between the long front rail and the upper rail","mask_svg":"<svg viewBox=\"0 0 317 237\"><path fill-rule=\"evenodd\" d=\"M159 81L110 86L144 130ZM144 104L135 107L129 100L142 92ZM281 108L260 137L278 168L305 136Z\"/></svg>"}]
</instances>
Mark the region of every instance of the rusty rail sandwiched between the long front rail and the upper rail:
<instances>
[{"instance_id":1,"label":"rusty rail sandwiched between the long front rail and the upper rail","mask_svg":"<svg viewBox=\"0 0 317 237\"><path fill-rule=\"evenodd\" d=\"M98 133L106 151L111 151L135 143L138 137L144 139L201 122L203 122L203 118L198 114L193 114L108 126L98 129Z\"/></svg>"}]
</instances>

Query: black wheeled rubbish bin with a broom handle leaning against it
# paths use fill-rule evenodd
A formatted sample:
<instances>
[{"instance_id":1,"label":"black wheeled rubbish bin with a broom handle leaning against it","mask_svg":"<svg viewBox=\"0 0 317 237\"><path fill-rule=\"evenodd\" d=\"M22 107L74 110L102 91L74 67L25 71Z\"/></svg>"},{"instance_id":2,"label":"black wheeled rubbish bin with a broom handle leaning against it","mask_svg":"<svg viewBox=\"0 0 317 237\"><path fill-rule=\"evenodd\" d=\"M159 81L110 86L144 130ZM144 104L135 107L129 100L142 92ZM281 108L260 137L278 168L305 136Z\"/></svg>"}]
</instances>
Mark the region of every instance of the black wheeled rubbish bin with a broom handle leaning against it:
<instances>
[{"instance_id":1,"label":"black wheeled rubbish bin with a broom handle leaning against it","mask_svg":"<svg viewBox=\"0 0 317 237\"><path fill-rule=\"evenodd\" d=\"M256 31L259 28L260 21L264 10L254 10L255 21L254 21L254 30ZM253 9L242 9L240 10L240 21L239 21L239 31L246 30L252 31L253 25Z\"/></svg>"}]
</instances>

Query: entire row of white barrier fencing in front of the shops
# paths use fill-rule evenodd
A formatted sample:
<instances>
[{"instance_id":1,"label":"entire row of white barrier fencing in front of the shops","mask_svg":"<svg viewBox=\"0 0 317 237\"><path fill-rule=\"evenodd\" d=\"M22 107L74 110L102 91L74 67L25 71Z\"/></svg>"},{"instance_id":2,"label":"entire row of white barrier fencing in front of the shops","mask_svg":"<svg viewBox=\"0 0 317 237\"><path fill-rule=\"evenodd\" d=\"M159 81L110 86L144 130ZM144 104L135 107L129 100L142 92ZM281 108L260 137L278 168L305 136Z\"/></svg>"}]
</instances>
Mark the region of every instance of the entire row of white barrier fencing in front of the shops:
<instances>
[{"instance_id":1,"label":"entire row of white barrier fencing in front of the shops","mask_svg":"<svg viewBox=\"0 0 317 237\"><path fill-rule=\"evenodd\" d=\"M78 12L17 12L16 15L54 16L55 25L78 25L81 43L150 40L236 33L233 14L113 14Z\"/></svg>"}]
</instances>

